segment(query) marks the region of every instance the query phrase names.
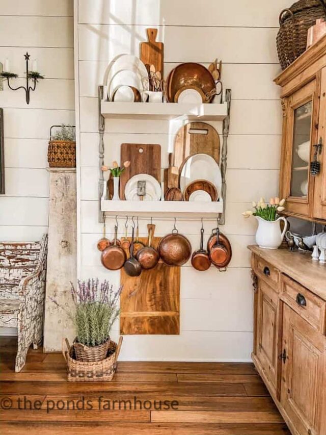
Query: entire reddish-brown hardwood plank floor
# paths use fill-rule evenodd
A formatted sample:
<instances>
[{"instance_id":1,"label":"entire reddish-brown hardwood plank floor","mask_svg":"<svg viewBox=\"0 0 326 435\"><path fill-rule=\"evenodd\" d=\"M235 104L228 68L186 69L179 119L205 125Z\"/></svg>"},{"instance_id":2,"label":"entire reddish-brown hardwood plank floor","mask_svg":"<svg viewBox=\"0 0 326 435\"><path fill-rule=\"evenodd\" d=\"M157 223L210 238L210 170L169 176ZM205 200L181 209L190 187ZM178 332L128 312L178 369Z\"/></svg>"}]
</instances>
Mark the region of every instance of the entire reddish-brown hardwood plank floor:
<instances>
[{"instance_id":1,"label":"entire reddish-brown hardwood plank floor","mask_svg":"<svg viewBox=\"0 0 326 435\"><path fill-rule=\"evenodd\" d=\"M0 338L2 435L290 435L252 364L119 362L112 382L84 383L42 349L15 373L15 352Z\"/></svg>"}]
</instances>

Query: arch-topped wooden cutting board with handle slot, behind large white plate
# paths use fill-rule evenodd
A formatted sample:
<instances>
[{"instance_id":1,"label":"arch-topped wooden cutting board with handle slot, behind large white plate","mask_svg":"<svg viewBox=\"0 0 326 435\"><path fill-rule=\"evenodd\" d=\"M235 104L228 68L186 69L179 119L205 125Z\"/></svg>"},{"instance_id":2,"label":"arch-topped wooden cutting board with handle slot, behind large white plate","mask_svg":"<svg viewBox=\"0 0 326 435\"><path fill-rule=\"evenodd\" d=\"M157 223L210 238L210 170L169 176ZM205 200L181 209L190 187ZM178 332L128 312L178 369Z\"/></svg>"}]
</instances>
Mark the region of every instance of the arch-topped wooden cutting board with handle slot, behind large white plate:
<instances>
[{"instance_id":1,"label":"arch-topped wooden cutting board with handle slot, behind large white plate","mask_svg":"<svg viewBox=\"0 0 326 435\"><path fill-rule=\"evenodd\" d=\"M189 122L176 134L172 166L180 169L184 160L194 154L208 154L220 164L220 137L210 124Z\"/></svg>"}]
</instances>

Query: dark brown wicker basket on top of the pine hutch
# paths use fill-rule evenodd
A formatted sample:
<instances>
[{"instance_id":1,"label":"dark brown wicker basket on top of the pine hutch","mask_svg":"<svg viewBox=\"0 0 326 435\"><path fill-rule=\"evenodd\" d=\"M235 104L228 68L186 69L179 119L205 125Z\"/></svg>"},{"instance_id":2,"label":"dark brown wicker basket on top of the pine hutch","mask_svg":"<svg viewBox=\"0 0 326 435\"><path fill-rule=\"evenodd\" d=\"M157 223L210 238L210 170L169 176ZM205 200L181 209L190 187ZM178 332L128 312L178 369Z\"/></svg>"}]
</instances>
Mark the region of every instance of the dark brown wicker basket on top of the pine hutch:
<instances>
[{"instance_id":1,"label":"dark brown wicker basket on top of the pine hutch","mask_svg":"<svg viewBox=\"0 0 326 435\"><path fill-rule=\"evenodd\" d=\"M283 9L279 16L280 30L276 37L282 69L305 52L308 29L316 24L316 19L325 16L325 0L299 0L289 9Z\"/></svg>"}]
</instances>

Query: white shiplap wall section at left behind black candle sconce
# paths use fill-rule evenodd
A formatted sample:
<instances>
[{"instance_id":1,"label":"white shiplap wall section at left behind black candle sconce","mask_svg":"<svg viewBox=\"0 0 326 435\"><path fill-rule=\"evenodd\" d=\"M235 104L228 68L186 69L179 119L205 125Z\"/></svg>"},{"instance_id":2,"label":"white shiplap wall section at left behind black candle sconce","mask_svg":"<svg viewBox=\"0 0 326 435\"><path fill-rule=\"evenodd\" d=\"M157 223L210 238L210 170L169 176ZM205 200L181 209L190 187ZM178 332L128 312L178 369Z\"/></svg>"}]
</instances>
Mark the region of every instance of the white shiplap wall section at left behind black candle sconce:
<instances>
[{"instance_id":1,"label":"white shiplap wall section at left behind black candle sconce","mask_svg":"<svg viewBox=\"0 0 326 435\"><path fill-rule=\"evenodd\" d=\"M38 60L45 75L31 93L4 82L6 194L0 196L0 240L39 240L47 232L47 144L52 124L74 124L73 0L2 0L0 62L10 60L24 85L25 61Z\"/></svg>"}]
</instances>

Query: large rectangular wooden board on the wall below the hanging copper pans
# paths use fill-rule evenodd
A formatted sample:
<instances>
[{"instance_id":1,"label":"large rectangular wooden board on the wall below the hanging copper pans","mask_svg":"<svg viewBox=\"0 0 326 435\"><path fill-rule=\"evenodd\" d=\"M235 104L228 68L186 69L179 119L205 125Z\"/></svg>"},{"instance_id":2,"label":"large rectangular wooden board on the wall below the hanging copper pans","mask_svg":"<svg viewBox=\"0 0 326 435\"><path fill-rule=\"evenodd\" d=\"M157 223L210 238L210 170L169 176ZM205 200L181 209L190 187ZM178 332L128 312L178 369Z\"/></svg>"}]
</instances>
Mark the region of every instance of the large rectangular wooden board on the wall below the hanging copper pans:
<instances>
[{"instance_id":1,"label":"large rectangular wooden board on the wall below the hanging copper pans","mask_svg":"<svg viewBox=\"0 0 326 435\"><path fill-rule=\"evenodd\" d=\"M147 238L140 238L143 243ZM160 237L154 237L157 247ZM121 269L120 334L179 334L180 267L159 262L140 276Z\"/></svg>"}]
</instances>

